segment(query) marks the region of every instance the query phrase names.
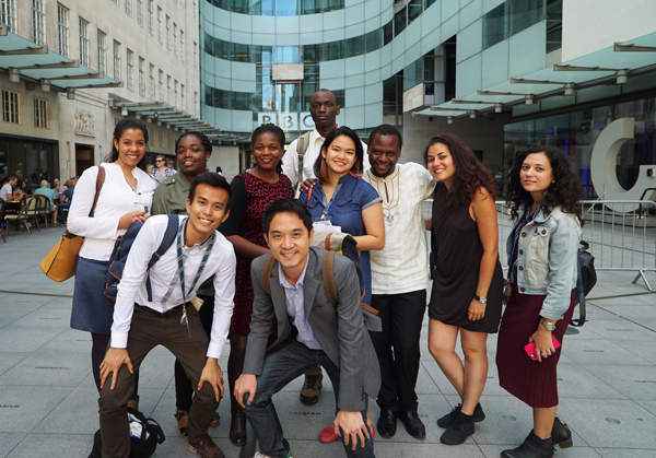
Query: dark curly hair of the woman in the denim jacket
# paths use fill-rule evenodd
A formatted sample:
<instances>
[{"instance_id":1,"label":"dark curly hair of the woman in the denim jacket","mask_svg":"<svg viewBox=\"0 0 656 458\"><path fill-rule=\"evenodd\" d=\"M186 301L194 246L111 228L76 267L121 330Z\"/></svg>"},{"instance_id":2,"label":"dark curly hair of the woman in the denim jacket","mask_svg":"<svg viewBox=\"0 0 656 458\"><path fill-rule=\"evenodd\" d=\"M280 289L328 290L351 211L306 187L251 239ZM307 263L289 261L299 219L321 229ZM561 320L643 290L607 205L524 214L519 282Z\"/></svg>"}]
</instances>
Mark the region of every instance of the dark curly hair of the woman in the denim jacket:
<instances>
[{"instance_id":1,"label":"dark curly hair of the woman in the denim jacket","mask_svg":"<svg viewBox=\"0 0 656 458\"><path fill-rule=\"evenodd\" d=\"M542 209L546 214L553 211L557 205L565 213L573 214L581 220L579 200L584 198L581 178L572 172L570 161L565 153L558 148L541 146L539 144L529 144L515 153L513 165L508 174L508 193L506 204L511 208L513 220L519 215L519 209L531 201L530 192L522 187L519 173L526 156L534 153L543 153L551 164L553 183L544 191Z\"/></svg>"}]
</instances>

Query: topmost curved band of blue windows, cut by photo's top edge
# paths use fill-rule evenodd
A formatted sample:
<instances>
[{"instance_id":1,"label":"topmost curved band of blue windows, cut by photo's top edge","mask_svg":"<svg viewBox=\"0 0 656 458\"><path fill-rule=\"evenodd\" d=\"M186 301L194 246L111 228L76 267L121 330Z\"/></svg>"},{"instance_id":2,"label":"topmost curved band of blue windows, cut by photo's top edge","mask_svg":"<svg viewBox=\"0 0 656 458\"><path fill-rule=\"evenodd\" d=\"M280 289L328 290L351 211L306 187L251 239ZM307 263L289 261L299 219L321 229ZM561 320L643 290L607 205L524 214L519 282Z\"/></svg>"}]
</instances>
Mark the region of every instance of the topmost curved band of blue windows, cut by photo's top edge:
<instances>
[{"instance_id":1,"label":"topmost curved band of blue windows, cut by photo's top edge","mask_svg":"<svg viewBox=\"0 0 656 458\"><path fill-rule=\"evenodd\" d=\"M207 0L225 11L260 16L298 16L343 10L344 0ZM415 0L417 1L417 0ZM421 1L421 0L420 0Z\"/></svg>"}]
</instances>

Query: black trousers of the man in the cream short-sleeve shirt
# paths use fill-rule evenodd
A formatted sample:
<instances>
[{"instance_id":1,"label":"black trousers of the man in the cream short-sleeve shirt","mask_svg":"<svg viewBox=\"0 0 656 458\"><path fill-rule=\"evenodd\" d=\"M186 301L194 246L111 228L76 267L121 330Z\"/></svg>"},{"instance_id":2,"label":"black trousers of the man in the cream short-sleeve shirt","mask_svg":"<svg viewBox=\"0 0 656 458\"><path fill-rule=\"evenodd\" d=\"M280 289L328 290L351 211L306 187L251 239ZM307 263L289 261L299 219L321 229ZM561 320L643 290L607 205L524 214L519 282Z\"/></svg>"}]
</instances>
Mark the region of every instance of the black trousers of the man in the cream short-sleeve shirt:
<instances>
[{"instance_id":1,"label":"black trousers of the man in the cream short-sleeve shirt","mask_svg":"<svg viewBox=\"0 0 656 458\"><path fill-rule=\"evenodd\" d=\"M376 402L380 409L395 412L417 411L414 389L419 375L419 338L426 309L426 290L374 294L372 307L378 310L383 322L382 332L370 331L383 380Z\"/></svg>"}]
</instances>

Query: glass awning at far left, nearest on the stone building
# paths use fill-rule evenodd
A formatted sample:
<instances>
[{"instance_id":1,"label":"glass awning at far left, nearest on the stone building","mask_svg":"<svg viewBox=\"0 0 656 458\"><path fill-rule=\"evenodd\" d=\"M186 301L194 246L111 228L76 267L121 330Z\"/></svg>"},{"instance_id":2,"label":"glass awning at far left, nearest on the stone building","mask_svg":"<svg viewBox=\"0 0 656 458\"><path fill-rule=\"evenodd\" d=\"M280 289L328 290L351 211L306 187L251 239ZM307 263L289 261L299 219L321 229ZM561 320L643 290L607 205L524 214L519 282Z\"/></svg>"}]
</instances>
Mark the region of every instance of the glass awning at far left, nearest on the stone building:
<instances>
[{"instance_id":1,"label":"glass awning at far left, nearest on the stone building","mask_svg":"<svg viewBox=\"0 0 656 458\"><path fill-rule=\"evenodd\" d=\"M0 68L9 72L12 83L21 78L40 83L44 92L56 87L74 98L74 91L83 87L121 87L122 82L104 73L81 66L79 60L69 59L9 32L0 26Z\"/></svg>"}]
</instances>

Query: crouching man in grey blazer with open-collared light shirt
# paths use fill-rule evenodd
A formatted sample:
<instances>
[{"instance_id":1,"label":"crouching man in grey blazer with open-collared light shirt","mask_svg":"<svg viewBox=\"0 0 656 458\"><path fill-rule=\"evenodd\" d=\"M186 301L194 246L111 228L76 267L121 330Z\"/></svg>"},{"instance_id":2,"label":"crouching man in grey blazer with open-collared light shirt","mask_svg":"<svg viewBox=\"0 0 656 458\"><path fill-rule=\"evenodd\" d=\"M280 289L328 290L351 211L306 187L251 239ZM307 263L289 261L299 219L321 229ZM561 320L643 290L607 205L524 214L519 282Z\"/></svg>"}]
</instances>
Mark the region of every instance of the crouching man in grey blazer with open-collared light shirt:
<instances>
[{"instance_id":1,"label":"crouching man in grey blazer with open-collared light shirt","mask_svg":"<svg viewBox=\"0 0 656 458\"><path fill-rule=\"evenodd\" d=\"M374 457L366 422L368 396L380 388L380 367L364 322L355 266L335 257L337 306L324 287L320 249L311 248L312 216L295 199L271 203L262 215L265 237L271 255L253 261L255 291L250 334L244 373L235 384L235 397L244 406L260 444L255 457L292 457L290 444L271 401L273 394L321 365L332 383L337 401L335 431L347 456ZM262 289L262 270L269 256L276 258L269 291ZM278 324L278 339L269 344Z\"/></svg>"}]
</instances>

